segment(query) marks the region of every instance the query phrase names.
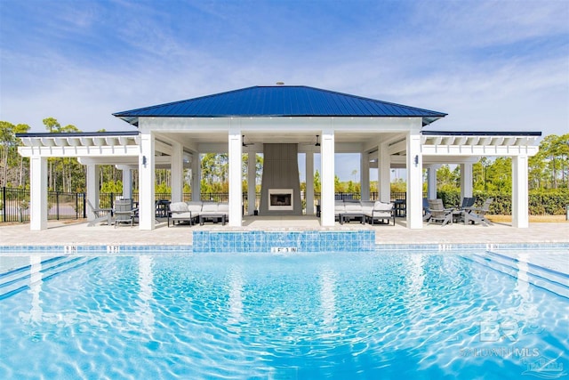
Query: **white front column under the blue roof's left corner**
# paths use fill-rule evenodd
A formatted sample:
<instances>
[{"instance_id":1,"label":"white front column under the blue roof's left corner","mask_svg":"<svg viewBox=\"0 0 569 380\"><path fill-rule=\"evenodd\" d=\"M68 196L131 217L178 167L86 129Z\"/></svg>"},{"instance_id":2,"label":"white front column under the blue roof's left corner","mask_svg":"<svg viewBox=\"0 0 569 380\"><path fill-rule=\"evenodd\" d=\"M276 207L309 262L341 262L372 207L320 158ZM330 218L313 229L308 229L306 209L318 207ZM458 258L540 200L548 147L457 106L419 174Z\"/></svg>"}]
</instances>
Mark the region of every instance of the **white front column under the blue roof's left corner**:
<instances>
[{"instance_id":1,"label":"white front column under the blue roof's left corner","mask_svg":"<svg viewBox=\"0 0 569 380\"><path fill-rule=\"evenodd\" d=\"M140 130L139 155L139 229L154 230L156 222L155 207L155 158L154 134L148 130Z\"/></svg>"}]
</instances>

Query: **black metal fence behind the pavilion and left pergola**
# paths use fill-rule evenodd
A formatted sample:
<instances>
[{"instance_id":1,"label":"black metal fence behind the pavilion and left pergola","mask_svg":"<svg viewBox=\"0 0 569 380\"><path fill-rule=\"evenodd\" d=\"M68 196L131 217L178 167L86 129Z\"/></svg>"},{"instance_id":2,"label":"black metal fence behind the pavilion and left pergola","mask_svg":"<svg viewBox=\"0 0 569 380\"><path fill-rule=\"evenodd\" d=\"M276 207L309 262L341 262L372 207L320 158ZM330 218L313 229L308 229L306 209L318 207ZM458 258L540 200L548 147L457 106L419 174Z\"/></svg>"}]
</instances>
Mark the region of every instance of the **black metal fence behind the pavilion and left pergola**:
<instances>
[{"instance_id":1,"label":"black metal fence behind the pavilion and left pergola","mask_svg":"<svg viewBox=\"0 0 569 380\"><path fill-rule=\"evenodd\" d=\"M0 188L0 222L28 222L29 221L29 190L27 189L13 189L3 187ZM115 200L121 198L122 194L119 193L100 193L99 205L100 207L113 208ZM405 192L391 193L391 200L405 199ZM132 194L135 202L139 200L138 192ZM182 200L188 202L191 200L191 193L183 193ZM336 199L359 199L359 193L338 192L335 194ZM200 195L201 200L208 200L212 202L228 202L228 193L212 193L204 192ZM302 204L306 202L304 191L301 191ZM377 192L370 193L371 200L378 199ZM159 200L172 200L170 193L156 193L155 201ZM315 204L320 201L320 193L314 194ZM260 193L255 196L255 209L259 209ZM60 191L49 191L47 193L47 219L48 220L62 220L62 219L80 219L87 216L86 198L82 192L70 193ZM247 193L243 193L243 208L247 210L249 207L249 199ZM316 207L315 207L316 209Z\"/></svg>"}]
</instances>

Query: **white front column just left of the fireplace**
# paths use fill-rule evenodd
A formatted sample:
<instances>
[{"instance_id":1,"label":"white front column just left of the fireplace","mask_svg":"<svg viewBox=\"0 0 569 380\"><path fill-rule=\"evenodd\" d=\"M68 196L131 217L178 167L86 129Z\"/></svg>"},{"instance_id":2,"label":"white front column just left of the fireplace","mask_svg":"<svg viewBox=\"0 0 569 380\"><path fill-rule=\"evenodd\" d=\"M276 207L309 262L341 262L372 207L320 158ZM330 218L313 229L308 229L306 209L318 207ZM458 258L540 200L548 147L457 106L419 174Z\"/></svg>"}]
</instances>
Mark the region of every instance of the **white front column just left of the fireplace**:
<instances>
[{"instance_id":1,"label":"white front column just left of the fireplace","mask_svg":"<svg viewBox=\"0 0 569 380\"><path fill-rule=\"evenodd\" d=\"M241 130L230 127L228 133L229 141L229 225L241 227Z\"/></svg>"}]
</instances>

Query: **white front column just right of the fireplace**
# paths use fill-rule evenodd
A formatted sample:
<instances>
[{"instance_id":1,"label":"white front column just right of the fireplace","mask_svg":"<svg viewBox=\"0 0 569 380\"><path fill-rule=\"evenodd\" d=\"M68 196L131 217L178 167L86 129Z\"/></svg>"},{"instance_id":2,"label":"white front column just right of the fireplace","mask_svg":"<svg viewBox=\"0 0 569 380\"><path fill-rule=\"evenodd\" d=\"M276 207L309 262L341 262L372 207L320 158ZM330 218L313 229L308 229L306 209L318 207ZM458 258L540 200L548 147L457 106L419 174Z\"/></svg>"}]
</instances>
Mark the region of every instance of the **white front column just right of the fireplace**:
<instances>
[{"instance_id":1,"label":"white front column just right of the fireplace","mask_svg":"<svg viewBox=\"0 0 569 380\"><path fill-rule=\"evenodd\" d=\"M322 194L320 208L320 223L324 227L334 225L334 131L322 131L320 146L322 161Z\"/></svg>"}]
</instances>

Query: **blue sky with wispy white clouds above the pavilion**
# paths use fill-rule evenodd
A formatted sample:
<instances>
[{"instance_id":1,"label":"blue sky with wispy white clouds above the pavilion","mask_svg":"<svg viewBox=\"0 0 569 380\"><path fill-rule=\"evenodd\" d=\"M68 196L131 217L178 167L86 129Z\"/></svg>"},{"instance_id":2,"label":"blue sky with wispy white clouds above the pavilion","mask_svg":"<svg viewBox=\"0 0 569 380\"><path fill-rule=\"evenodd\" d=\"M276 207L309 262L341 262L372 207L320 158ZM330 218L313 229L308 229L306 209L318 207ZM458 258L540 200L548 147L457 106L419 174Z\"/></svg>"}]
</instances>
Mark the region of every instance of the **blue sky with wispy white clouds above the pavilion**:
<instances>
[{"instance_id":1,"label":"blue sky with wispy white clouds above the pavilion","mask_svg":"<svg viewBox=\"0 0 569 380\"><path fill-rule=\"evenodd\" d=\"M278 81L569 133L569 1L0 0L0 120L30 132Z\"/></svg>"}]
</instances>

